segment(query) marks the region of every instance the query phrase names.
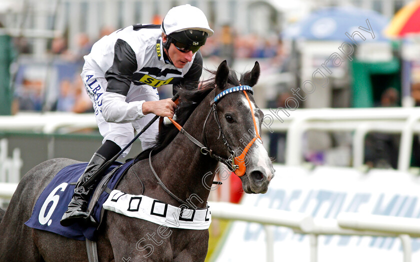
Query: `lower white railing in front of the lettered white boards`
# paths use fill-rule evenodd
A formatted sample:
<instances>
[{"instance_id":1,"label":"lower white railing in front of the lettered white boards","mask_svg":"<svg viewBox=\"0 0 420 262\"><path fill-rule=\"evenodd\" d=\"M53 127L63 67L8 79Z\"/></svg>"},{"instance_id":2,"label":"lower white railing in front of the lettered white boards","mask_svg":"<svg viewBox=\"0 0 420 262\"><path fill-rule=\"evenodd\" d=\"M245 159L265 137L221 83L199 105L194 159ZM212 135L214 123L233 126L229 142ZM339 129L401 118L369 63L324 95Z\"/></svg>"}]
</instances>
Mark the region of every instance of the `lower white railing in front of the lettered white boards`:
<instances>
[{"instance_id":1,"label":"lower white railing in front of the lettered white boards","mask_svg":"<svg viewBox=\"0 0 420 262\"><path fill-rule=\"evenodd\" d=\"M266 261L274 261L272 226L292 228L309 236L309 261L318 260L318 235L370 235L399 237L403 262L411 261L411 237L420 237L420 220L416 218L339 213L337 219L312 218L303 213L259 208L223 202L208 202L213 218L257 222L263 224L266 240Z\"/></svg>"}]
</instances>

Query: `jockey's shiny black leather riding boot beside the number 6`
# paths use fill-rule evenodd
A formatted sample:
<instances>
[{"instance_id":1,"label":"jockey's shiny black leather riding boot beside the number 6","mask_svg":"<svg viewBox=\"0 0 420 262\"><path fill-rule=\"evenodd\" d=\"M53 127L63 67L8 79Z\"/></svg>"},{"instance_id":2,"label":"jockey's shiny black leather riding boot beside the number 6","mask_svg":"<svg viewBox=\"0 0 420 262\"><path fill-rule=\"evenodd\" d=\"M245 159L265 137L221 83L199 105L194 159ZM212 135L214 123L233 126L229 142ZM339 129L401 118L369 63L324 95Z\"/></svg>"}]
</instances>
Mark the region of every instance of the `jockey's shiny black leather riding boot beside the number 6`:
<instances>
[{"instance_id":1,"label":"jockey's shiny black leather riding boot beside the number 6","mask_svg":"<svg viewBox=\"0 0 420 262\"><path fill-rule=\"evenodd\" d=\"M95 174L104 162L106 162L105 157L97 152L93 154L83 174L77 180L76 186L74 187L74 194L68 204L67 211L61 217L60 224L62 226L69 226L77 221L96 223L93 217L87 217L88 212L86 211L89 193L91 193L90 191L94 187L94 183L87 187L83 186L83 184Z\"/></svg>"}]
</instances>

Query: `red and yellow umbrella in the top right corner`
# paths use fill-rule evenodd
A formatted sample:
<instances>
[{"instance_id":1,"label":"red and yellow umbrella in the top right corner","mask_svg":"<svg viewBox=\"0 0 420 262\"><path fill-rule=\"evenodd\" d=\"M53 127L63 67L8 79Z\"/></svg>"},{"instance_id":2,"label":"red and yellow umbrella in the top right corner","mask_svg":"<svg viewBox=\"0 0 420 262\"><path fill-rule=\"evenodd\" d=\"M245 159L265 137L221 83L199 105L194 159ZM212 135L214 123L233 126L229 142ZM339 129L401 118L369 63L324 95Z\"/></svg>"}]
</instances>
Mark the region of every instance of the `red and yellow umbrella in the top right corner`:
<instances>
[{"instance_id":1,"label":"red and yellow umbrella in the top right corner","mask_svg":"<svg viewBox=\"0 0 420 262\"><path fill-rule=\"evenodd\" d=\"M388 36L404 36L420 33L420 0L404 5L392 18L385 29Z\"/></svg>"}]
</instances>

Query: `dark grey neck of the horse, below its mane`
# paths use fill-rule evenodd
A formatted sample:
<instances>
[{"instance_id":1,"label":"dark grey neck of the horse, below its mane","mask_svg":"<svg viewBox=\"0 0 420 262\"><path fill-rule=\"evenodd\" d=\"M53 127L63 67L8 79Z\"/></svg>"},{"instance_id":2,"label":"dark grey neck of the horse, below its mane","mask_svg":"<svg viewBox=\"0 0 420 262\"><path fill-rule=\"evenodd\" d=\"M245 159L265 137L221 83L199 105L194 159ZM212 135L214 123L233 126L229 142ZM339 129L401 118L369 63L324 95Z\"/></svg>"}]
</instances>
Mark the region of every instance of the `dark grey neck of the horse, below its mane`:
<instances>
[{"instance_id":1,"label":"dark grey neck of the horse, below its mane","mask_svg":"<svg viewBox=\"0 0 420 262\"><path fill-rule=\"evenodd\" d=\"M185 130L203 141L202 129L209 99L204 99L184 125ZM189 140L185 135L178 133L169 146L156 154L153 158L153 168L162 182L182 200L198 196L205 206L208 198L209 187L214 178L217 161L208 155L200 153L200 147ZM205 177L204 177L205 176ZM204 177L204 179L203 179Z\"/></svg>"}]
</instances>

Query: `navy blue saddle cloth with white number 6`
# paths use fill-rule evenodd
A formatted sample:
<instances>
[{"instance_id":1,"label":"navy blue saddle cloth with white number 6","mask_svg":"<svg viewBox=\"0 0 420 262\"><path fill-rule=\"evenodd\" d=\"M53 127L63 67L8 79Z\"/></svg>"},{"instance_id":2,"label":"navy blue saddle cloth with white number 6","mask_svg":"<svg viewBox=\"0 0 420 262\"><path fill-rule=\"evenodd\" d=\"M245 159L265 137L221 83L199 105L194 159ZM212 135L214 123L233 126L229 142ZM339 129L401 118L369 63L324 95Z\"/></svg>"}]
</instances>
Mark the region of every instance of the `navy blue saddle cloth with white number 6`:
<instances>
[{"instance_id":1,"label":"navy blue saddle cloth with white number 6","mask_svg":"<svg viewBox=\"0 0 420 262\"><path fill-rule=\"evenodd\" d=\"M134 160L126 163L114 163L111 165L106 173L114 168L119 168L111 176L107 187L114 189L119 181L119 178L124 174L125 170L132 164ZM54 232L65 237L85 240L85 238L95 241L97 238L97 228L90 226L82 226L74 223L70 226L62 226L60 219L67 210L68 203L74 192L74 184L87 166L87 162L72 164L64 167L52 178L51 182L44 188L42 193L36 200L35 206L32 210L32 215L25 222L29 227ZM109 193L103 191L97 203L93 207L93 217L96 221L100 221L102 204L107 199Z\"/></svg>"}]
</instances>

